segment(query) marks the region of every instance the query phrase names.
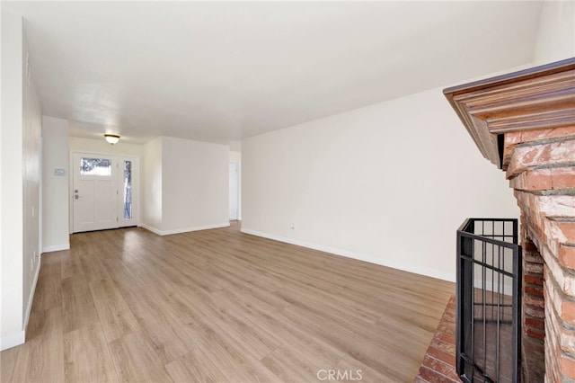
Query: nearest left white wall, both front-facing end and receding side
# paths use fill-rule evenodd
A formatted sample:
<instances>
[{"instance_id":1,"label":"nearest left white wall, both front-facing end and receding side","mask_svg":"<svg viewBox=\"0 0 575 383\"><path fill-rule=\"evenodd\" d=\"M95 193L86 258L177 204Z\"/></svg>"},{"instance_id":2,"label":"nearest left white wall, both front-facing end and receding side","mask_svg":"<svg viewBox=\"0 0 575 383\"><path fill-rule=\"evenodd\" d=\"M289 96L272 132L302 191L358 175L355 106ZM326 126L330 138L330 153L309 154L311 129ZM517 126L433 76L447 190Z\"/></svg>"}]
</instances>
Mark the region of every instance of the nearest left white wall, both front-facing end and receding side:
<instances>
[{"instance_id":1,"label":"nearest left white wall, both front-facing end and receding side","mask_svg":"<svg viewBox=\"0 0 575 383\"><path fill-rule=\"evenodd\" d=\"M2 9L1 350L24 342L40 271L41 114L22 28L22 17Z\"/></svg>"}]
</instances>

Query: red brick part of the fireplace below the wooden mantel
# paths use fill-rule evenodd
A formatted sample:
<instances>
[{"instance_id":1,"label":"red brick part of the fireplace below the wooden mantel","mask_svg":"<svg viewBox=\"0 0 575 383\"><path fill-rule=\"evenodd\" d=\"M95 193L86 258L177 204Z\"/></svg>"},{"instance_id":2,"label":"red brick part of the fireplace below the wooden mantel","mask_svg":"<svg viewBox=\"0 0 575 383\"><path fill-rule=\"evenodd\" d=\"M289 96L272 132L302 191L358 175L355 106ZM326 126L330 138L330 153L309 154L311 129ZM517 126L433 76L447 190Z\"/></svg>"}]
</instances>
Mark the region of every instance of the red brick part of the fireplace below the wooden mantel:
<instances>
[{"instance_id":1,"label":"red brick part of the fireplace below the wooden mantel","mask_svg":"<svg viewBox=\"0 0 575 383\"><path fill-rule=\"evenodd\" d=\"M572 381L575 127L506 133L503 168L522 215L524 359L543 341L545 380Z\"/></svg>"}]
</instances>

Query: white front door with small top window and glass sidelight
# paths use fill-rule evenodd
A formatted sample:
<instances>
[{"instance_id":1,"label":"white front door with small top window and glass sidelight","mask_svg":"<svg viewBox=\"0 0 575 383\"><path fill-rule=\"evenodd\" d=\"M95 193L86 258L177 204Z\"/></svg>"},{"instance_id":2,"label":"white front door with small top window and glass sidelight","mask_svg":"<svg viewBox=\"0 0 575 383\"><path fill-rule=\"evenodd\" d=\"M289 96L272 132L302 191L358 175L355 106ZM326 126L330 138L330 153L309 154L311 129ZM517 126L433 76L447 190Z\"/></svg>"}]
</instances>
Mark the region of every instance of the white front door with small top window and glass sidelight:
<instances>
[{"instance_id":1,"label":"white front door with small top window and glass sidelight","mask_svg":"<svg viewBox=\"0 0 575 383\"><path fill-rule=\"evenodd\" d=\"M137 225L137 157L74 153L73 161L73 232Z\"/></svg>"}]
</instances>

